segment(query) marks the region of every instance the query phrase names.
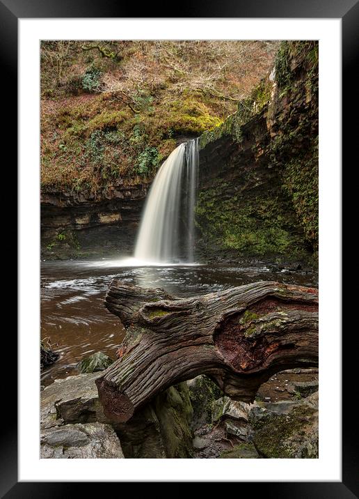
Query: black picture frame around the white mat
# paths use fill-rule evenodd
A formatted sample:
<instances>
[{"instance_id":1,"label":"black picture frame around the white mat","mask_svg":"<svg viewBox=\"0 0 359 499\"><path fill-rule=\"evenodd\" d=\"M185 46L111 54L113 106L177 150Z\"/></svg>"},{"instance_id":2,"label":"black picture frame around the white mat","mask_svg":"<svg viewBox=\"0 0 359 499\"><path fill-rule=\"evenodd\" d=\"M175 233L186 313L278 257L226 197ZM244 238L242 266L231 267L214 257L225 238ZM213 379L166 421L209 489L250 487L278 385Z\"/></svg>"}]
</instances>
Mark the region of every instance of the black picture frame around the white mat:
<instances>
[{"instance_id":1,"label":"black picture frame around the white mat","mask_svg":"<svg viewBox=\"0 0 359 499\"><path fill-rule=\"evenodd\" d=\"M197 0L193 3L184 1L178 5L177 13L168 13L164 6L156 7L153 3L122 3L116 0L0 0L0 54L2 61L2 77L0 78L3 100L10 103L10 111L6 115L6 125L3 130L3 144L6 148L17 140L17 21L24 18L69 18L69 17L251 17L251 18L337 18L342 20L342 89L343 89L343 134L342 151L343 164L349 163L349 154L353 144L358 141L357 127L349 125L349 116L358 116L355 107L358 107L358 95L355 88L357 80L354 77L356 69L356 56L359 54L359 3L358 0L233 0L205 1ZM323 82L322 82L323 84ZM325 84L325 82L324 82ZM8 171L15 178L11 185L17 182L15 158L17 144L11 148L11 161L8 160ZM348 164L349 166L349 164ZM15 175L14 175L15 174ZM16 204L12 201L10 227L11 247L16 240L15 220ZM13 276L13 286L17 279ZM16 291L14 289L13 294ZM349 309L350 305L346 305ZM341 304L338 303L338 307ZM13 314L15 317L16 314ZM343 314L344 316L344 314ZM71 497L83 491L83 484L77 482L18 482L17 479L17 375L14 369L13 358L17 351L17 339L12 328L6 337L9 341L7 351L10 365L3 368L3 404L6 404L8 420L1 426L0 447L0 494L6 498L63 498ZM345 353L343 360L343 385L342 385L342 482L241 482L238 491L244 493L244 487L250 493L265 493L266 497L276 498L353 498L359 496L358 489L358 446L355 431L358 427L356 410L349 406L355 394L353 379L355 375L351 369L356 366L356 349L350 346L351 331L346 337L343 335L342 347ZM354 332L353 332L354 334ZM3 347L5 348L5 347ZM6 402L5 402L6 401ZM340 404L341 401L333 401ZM283 477L285 479L285 477ZM93 492L100 484L91 483ZM111 485L111 484L108 484ZM113 484L112 484L113 485ZM114 484L116 486L116 484ZM117 487L120 484L117 484ZM81 489L80 489L81 487ZM255 489L253 489L255 487ZM178 490L178 489L177 489ZM181 489L179 489L181 490ZM150 490L147 489L147 493Z\"/></svg>"}]
</instances>

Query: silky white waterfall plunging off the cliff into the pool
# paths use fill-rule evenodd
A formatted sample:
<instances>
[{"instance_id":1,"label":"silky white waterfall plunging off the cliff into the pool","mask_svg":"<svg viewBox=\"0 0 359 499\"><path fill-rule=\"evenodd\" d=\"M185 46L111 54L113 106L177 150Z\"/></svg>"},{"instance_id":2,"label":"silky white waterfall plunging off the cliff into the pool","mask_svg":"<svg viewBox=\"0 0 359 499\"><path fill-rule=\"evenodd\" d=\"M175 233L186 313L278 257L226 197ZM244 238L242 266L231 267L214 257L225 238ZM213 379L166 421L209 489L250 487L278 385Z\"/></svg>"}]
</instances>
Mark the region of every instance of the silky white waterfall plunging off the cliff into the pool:
<instances>
[{"instance_id":1,"label":"silky white waterfall plunging off the cliff into the pool","mask_svg":"<svg viewBox=\"0 0 359 499\"><path fill-rule=\"evenodd\" d=\"M134 257L147 263L193 263L198 140L180 144L147 194Z\"/></svg>"}]
</instances>

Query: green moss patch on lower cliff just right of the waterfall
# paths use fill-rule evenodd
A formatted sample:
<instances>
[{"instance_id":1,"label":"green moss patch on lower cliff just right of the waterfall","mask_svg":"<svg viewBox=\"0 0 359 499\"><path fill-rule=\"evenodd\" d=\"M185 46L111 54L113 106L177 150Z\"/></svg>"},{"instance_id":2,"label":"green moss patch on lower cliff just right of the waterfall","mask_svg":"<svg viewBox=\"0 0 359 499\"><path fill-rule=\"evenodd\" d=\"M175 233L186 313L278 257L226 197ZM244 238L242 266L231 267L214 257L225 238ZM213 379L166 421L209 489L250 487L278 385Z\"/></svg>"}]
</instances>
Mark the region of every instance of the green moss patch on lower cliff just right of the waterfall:
<instances>
[{"instance_id":1,"label":"green moss patch on lower cliff just right of the waterfall","mask_svg":"<svg viewBox=\"0 0 359 499\"><path fill-rule=\"evenodd\" d=\"M229 195L229 185L218 181L212 189L200 191L196 205L196 225L218 248L237 250L241 254L301 254L304 245L296 230L296 218L280 187L246 190L252 183L250 173L242 177L239 194ZM260 186L258 186L260 187Z\"/></svg>"}]
</instances>

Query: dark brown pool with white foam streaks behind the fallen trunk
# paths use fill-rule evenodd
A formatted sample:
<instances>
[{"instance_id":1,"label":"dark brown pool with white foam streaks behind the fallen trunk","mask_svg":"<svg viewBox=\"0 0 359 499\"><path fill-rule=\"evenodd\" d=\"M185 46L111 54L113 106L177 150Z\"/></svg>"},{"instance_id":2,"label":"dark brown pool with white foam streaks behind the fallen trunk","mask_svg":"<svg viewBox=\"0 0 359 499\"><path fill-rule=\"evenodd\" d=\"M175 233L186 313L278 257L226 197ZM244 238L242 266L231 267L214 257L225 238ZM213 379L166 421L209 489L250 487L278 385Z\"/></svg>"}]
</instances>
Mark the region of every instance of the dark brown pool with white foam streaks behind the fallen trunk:
<instances>
[{"instance_id":1,"label":"dark brown pool with white foam streaks behind the fallen trunk","mask_svg":"<svg viewBox=\"0 0 359 499\"><path fill-rule=\"evenodd\" d=\"M104 307L114 277L143 287L161 287L190 296L260 280L317 286L310 270L287 270L264 263L244 266L121 267L115 261L41 263L41 338L49 338L60 358L42 371L42 384L78 374L77 363L102 351L115 358L125 331Z\"/></svg>"}]
</instances>

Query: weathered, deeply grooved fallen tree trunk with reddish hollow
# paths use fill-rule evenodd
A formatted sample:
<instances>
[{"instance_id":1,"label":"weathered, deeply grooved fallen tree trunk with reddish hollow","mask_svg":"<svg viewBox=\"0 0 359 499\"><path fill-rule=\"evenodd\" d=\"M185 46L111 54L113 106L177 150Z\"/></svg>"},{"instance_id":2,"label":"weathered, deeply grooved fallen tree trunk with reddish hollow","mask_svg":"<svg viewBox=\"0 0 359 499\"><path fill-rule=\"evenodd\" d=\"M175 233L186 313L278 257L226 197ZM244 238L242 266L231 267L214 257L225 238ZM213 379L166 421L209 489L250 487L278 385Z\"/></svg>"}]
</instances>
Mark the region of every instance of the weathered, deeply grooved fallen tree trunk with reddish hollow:
<instances>
[{"instance_id":1,"label":"weathered, deeply grooved fallen tree trunk with reddish hollow","mask_svg":"<svg viewBox=\"0 0 359 499\"><path fill-rule=\"evenodd\" d=\"M256 282L174 298L113 280L105 305L127 328L118 360L96 381L114 421L198 374L249 402L272 374L318 362L317 289Z\"/></svg>"}]
</instances>

